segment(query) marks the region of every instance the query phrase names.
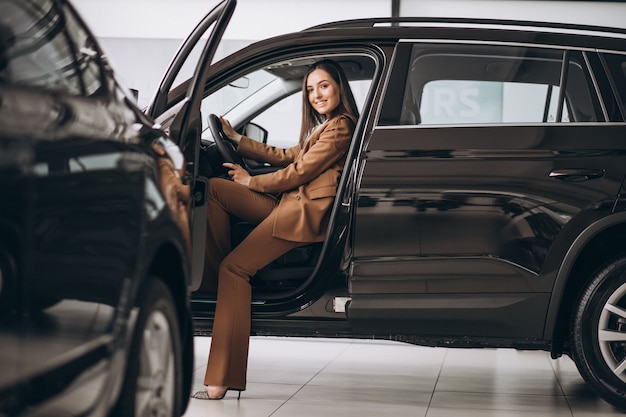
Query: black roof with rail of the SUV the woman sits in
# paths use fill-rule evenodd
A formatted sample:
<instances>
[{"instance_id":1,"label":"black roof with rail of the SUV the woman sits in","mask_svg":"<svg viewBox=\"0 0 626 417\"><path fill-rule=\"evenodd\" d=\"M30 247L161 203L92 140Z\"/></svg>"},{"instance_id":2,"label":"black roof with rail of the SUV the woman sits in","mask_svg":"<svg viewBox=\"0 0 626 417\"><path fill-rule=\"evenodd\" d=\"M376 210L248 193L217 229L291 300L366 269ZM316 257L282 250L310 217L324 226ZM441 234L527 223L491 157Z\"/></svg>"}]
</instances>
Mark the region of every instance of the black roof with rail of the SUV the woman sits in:
<instances>
[{"instance_id":1,"label":"black roof with rail of the SUV the woman sits in","mask_svg":"<svg viewBox=\"0 0 626 417\"><path fill-rule=\"evenodd\" d=\"M267 57L265 53L274 55L274 52L278 50L284 56L301 56L299 54L308 47L339 51L342 46L348 50L354 46L393 45L399 41L412 39L432 40L433 42L516 43L626 52L624 44L626 28L558 22L440 17L354 19L317 25L250 44L212 65L209 70L210 78L212 78L212 84L218 84L219 77L214 76L224 75L222 70L232 69L231 65L234 62L241 65L248 58L254 61L258 56ZM355 55L348 61L356 62L357 67L364 68L366 73L371 74L373 68L367 67L371 60L366 57L361 58ZM245 65L250 64L253 62L247 61ZM266 69L284 79L297 78L297 76L294 77L294 72L298 73L298 76L302 72L299 68L267 67ZM246 69L240 68L240 71L243 73ZM230 70L228 72L231 73ZM353 74L351 78L360 77L358 74Z\"/></svg>"}]
</instances>

